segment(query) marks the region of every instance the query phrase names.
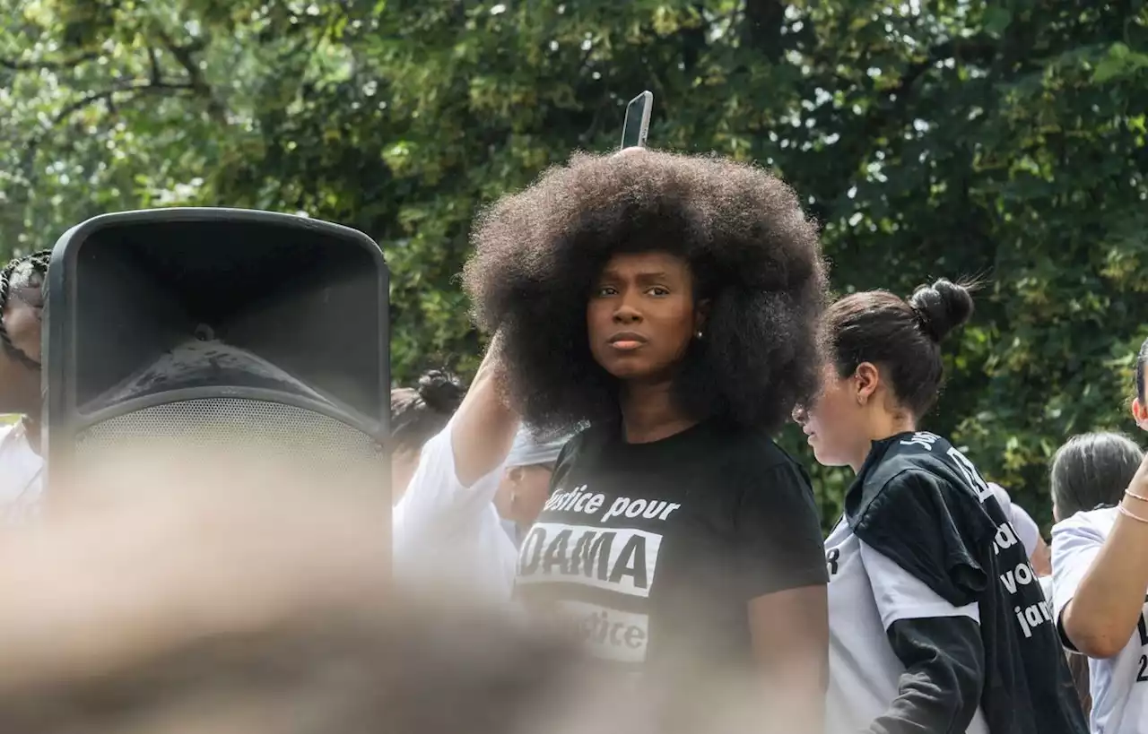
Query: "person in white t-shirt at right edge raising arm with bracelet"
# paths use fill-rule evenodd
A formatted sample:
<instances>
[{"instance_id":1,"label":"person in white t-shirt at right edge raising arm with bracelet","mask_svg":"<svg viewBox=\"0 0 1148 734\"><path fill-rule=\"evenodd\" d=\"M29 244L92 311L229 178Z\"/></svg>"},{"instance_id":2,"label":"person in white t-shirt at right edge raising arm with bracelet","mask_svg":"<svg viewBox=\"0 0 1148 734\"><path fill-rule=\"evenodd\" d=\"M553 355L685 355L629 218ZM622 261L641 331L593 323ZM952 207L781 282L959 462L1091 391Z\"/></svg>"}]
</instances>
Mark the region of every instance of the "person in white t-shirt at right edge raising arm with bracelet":
<instances>
[{"instance_id":1,"label":"person in white t-shirt at right edge raising arm with bracelet","mask_svg":"<svg viewBox=\"0 0 1148 734\"><path fill-rule=\"evenodd\" d=\"M1148 341L1135 367L1132 417L1146 424L1145 364ZM1084 464L1084 476L1072 486L1088 492L1065 492L1068 507L1080 512L1053 528L1054 610L1069 649L1089 658L1092 724L1094 732L1148 732L1148 458L1112 498L1126 476L1133 447L1106 444L1100 456ZM1116 499L1114 507L1094 509L1086 503Z\"/></svg>"}]
</instances>

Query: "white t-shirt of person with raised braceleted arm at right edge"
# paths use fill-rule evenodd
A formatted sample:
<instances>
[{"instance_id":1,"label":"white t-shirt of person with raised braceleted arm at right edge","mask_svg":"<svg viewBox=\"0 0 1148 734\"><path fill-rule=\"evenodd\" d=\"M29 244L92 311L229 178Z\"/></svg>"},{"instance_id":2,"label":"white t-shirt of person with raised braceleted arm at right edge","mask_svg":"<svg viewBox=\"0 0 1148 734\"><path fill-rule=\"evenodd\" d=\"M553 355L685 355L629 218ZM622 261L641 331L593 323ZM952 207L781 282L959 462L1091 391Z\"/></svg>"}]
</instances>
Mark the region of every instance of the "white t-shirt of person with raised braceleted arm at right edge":
<instances>
[{"instance_id":1,"label":"white t-shirt of person with raised braceleted arm at right edge","mask_svg":"<svg viewBox=\"0 0 1148 734\"><path fill-rule=\"evenodd\" d=\"M1053 610L1061 618L1116 522L1116 508L1077 513L1053 526ZM1106 659L1088 658L1093 734L1148 734L1148 604L1128 643Z\"/></svg>"}]
</instances>

